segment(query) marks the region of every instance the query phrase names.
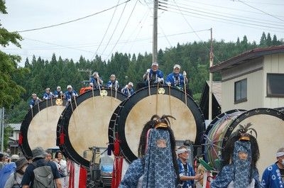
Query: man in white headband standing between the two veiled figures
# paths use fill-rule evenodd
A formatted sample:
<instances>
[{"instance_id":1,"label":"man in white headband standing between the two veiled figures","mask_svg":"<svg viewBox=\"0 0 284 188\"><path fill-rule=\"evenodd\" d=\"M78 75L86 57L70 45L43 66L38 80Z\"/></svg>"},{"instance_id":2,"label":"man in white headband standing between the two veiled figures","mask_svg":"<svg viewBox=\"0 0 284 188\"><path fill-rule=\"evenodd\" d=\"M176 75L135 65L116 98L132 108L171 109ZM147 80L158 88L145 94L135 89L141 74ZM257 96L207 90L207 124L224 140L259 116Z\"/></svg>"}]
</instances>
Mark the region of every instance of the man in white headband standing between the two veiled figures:
<instances>
[{"instance_id":1,"label":"man in white headband standing between the two veiled figures","mask_svg":"<svg viewBox=\"0 0 284 188\"><path fill-rule=\"evenodd\" d=\"M180 185L182 188L191 188L195 183L194 180L202 179L202 175L195 175L192 166L187 162L190 157L190 150L185 145L180 146L176 152L178 154L178 167L180 170Z\"/></svg>"}]
</instances>

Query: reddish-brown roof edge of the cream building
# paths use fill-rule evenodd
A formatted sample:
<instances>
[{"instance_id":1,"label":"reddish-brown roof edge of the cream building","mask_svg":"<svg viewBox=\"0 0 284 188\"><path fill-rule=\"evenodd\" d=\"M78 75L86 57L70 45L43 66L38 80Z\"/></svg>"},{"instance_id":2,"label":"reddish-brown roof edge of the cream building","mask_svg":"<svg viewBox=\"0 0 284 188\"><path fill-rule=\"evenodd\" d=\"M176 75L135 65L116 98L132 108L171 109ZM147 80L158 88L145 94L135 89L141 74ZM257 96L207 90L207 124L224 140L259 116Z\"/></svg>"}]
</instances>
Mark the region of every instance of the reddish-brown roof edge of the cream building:
<instances>
[{"instance_id":1,"label":"reddish-brown roof edge of the cream building","mask_svg":"<svg viewBox=\"0 0 284 188\"><path fill-rule=\"evenodd\" d=\"M219 72L221 70L228 69L247 62L248 60L256 59L264 55L273 55L277 53L284 53L284 45L271 46L269 48L256 48L243 52L239 55L236 55L235 57L231 57L229 60L220 62L219 64L212 66L210 68L210 72Z\"/></svg>"}]
</instances>

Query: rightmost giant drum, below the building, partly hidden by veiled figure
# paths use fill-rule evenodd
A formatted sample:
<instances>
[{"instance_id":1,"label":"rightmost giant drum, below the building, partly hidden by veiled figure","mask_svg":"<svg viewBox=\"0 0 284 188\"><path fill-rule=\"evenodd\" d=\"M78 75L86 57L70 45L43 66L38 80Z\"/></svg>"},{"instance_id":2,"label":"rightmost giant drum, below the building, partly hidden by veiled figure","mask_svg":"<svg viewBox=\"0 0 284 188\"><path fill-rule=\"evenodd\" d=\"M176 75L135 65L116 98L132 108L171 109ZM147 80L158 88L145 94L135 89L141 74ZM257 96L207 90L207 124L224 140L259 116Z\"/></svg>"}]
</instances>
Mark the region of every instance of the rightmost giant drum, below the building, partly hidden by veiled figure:
<instances>
[{"instance_id":1,"label":"rightmost giant drum, below the building, partly hidden by veiled figure","mask_svg":"<svg viewBox=\"0 0 284 188\"><path fill-rule=\"evenodd\" d=\"M246 126L251 123L250 128L254 128L257 132L258 147L260 150L260 158L257 163L258 171L262 174L268 165L275 161L275 153L278 148L283 147L284 137L284 114L275 109L253 109L245 111L227 126L226 132L222 138L222 147L216 148L217 153L222 151L226 144L226 139L231 136L231 133L239 128L239 125ZM210 140L214 140L214 133L210 134ZM216 140L217 141L217 140ZM207 153L212 157L212 153Z\"/></svg>"}]
</instances>

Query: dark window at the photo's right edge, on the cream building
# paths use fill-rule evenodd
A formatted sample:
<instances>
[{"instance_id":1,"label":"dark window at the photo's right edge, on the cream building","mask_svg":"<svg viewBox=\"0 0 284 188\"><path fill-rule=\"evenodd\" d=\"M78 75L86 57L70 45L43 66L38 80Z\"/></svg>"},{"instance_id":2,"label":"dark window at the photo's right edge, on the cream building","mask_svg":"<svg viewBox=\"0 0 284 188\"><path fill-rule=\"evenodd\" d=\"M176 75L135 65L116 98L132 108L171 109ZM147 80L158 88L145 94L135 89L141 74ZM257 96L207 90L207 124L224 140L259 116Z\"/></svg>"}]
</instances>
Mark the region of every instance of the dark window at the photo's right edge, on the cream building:
<instances>
[{"instance_id":1,"label":"dark window at the photo's right edge, on the cream building","mask_svg":"<svg viewBox=\"0 0 284 188\"><path fill-rule=\"evenodd\" d=\"M267 96L284 97L284 74L267 74L266 94Z\"/></svg>"}]
</instances>

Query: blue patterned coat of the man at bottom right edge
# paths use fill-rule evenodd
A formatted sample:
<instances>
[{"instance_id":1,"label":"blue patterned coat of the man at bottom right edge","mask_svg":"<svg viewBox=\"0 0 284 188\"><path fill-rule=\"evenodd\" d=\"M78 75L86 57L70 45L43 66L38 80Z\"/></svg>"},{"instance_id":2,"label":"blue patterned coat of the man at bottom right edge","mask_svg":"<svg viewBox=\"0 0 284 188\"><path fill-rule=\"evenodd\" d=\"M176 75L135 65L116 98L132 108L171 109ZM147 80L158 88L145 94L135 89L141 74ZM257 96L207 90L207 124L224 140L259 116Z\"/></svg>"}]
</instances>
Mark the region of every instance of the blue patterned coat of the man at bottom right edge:
<instances>
[{"instance_id":1,"label":"blue patterned coat of the man at bottom right edge","mask_svg":"<svg viewBox=\"0 0 284 188\"><path fill-rule=\"evenodd\" d=\"M264 170L261 184L265 188L280 188L284 187L283 179L280 175L280 170L276 164L273 164Z\"/></svg>"}]
</instances>

